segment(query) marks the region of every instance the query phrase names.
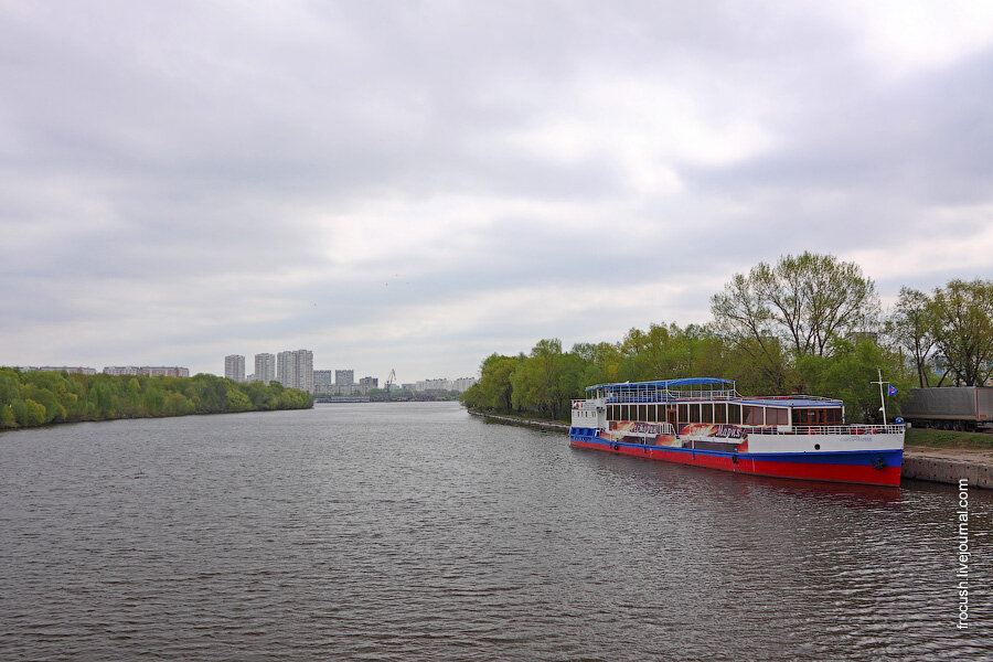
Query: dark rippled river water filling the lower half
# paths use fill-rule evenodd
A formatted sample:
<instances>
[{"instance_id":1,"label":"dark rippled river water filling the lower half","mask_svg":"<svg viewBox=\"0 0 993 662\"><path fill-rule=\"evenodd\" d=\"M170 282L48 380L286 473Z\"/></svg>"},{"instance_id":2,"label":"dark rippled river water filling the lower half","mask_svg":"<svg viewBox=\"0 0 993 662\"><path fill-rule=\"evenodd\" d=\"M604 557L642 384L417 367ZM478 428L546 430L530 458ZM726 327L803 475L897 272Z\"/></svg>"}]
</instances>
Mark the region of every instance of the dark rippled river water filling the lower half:
<instances>
[{"instance_id":1,"label":"dark rippled river water filling the lower half","mask_svg":"<svg viewBox=\"0 0 993 662\"><path fill-rule=\"evenodd\" d=\"M993 494L575 450L452 403L0 435L3 660L990 660ZM979 591L979 592L976 592Z\"/></svg>"}]
</instances>

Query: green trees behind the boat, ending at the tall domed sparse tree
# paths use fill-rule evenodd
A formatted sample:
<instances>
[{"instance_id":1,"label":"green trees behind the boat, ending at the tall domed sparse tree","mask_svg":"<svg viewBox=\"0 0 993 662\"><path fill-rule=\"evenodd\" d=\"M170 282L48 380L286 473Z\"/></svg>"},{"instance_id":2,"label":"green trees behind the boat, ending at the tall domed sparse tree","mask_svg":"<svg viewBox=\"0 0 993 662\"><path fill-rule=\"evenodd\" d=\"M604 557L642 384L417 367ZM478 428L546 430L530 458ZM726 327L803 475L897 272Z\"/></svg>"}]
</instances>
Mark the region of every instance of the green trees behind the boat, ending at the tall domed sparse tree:
<instances>
[{"instance_id":1,"label":"green trees behind the boat, ending at the tall domed sparse tree","mask_svg":"<svg viewBox=\"0 0 993 662\"><path fill-rule=\"evenodd\" d=\"M760 263L715 295L712 311L714 321L703 327L652 324L631 329L617 343L578 343L563 352L551 339L527 355L493 354L461 401L565 419L569 399L584 397L586 386L714 376L735 380L744 394L836 397L850 420L868 421L882 418L878 385L872 384L878 370L899 389L887 401L889 418L914 385L901 343L890 346L874 332L879 299L854 263L811 253L782 257L775 266Z\"/></svg>"}]
</instances>

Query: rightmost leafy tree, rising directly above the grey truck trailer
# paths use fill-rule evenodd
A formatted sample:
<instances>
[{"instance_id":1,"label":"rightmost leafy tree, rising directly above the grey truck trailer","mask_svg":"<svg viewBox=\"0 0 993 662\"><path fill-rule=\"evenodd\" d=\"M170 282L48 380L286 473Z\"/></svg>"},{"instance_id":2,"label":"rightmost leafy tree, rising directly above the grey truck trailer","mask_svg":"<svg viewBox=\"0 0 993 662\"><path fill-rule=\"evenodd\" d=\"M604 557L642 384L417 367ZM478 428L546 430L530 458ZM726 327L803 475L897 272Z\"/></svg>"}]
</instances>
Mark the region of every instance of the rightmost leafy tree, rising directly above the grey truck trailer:
<instances>
[{"instance_id":1,"label":"rightmost leafy tree, rising directly above the grey truck trailer","mask_svg":"<svg viewBox=\"0 0 993 662\"><path fill-rule=\"evenodd\" d=\"M984 384L993 374L993 280L952 280L935 290L929 308L946 375L957 386Z\"/></svg>"}]
</instances>

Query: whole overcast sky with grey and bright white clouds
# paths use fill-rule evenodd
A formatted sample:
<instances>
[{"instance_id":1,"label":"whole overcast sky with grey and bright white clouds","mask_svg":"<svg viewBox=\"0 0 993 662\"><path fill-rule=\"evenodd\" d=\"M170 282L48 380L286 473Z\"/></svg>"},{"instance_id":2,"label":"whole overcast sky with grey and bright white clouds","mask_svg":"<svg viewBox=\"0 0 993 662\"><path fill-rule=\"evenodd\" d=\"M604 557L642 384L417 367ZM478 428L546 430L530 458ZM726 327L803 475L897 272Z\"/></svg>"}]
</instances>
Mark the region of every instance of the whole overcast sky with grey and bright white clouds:
<instances>
[{"instance_id":1,"label":"whole overcast sky with grey and bright white clouds","mask_svg":"<svg viewBox=\"0 0 993 662\"><path fill-rule=\"evenodd\" d=\"M0 0L0 364L401 381L993 278L993 3Z\"/></svg>"}]
</instances>

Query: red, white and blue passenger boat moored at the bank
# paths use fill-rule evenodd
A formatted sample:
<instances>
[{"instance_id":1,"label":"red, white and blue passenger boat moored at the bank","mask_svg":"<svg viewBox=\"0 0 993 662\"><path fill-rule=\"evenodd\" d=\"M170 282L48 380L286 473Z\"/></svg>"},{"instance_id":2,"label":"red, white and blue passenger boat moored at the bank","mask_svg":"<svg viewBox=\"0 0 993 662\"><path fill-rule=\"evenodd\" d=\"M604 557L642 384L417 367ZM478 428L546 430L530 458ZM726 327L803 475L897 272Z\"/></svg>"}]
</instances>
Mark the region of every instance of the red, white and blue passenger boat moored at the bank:
<instances>
[{"instance_id":1,"label":"red, white and blue passenger boat moored at the bank","mask_svg":"<svg viewBox=\"0 0 993 662\"><path fill-rule=\"evenodd\" d=\"M904 425L845 425L841 401L744 397L713 377L599 384L573 401L569 442L737 473L899 485ZM884 414L885 420L885 414Z\"/></svg>"}]
</instances>

